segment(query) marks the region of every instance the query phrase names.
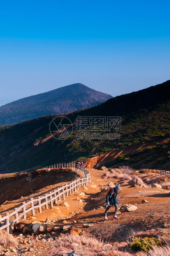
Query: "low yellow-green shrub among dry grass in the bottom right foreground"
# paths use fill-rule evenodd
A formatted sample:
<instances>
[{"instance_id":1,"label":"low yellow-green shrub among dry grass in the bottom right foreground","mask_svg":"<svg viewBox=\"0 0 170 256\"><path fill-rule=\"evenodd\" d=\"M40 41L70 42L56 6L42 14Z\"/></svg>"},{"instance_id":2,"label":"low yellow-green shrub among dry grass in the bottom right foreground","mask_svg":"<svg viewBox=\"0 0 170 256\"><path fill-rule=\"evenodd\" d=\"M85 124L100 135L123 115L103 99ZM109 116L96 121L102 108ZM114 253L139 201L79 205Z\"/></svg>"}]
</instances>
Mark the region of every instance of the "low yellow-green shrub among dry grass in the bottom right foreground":
<instances>
[{"instance_id":1,"label":"low yellow-green shrub among dry grass in the bottom right foreground","mask_svg":"<svg viewBox=\"0 0 170 256\"><path fill-rule=\"evenodd\" d=\"M134 250L134 251L147 251L149 248L152 249L154 246L161 246L161 242L156 239L155 237L144 237L144 238L137 238L135 237L134 242L131 244L128 244L128 246Z\"/></svg>"}]
</instances>

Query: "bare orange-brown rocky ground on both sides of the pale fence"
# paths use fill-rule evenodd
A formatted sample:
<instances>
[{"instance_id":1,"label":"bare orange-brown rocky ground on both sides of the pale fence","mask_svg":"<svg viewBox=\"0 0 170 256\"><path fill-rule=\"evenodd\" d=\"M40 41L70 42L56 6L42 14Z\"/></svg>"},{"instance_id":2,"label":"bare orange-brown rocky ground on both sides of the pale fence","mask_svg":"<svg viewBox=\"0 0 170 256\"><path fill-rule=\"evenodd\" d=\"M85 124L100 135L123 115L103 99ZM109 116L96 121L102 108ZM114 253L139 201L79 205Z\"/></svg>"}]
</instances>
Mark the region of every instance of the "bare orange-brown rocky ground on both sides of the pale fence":
<instances>
[{"instance_id":1,"label":"bare orange-brown rocky ground on both sides of the pale fence","mask_svg":"<svg viewBox=\"0 0 170 256\"><path fill-rule=\"evenodd\" d=\"M77 172L76 172L77 173ZM169 190L163 190L158 187L130 187L122 186L118 194L119 205L132 204L137 206L136 211L125 211L120 213L118 220L113 220L114 207L111 207L108 213L107 221L104 220L104 205L106 192L101 192L101 188L109 181L116 183L119 180L109 178L103 179L104 171L90 169L92 183L87 187L81 187L79 191L74 192L65 200L58 201L52 209L43 209L42 213L35 211L35 216L27 214L26 220L21 220L25 224L12 231L17 244L11 245L2 243L0 246L0 255L11 256L45 256L48 251L54 248L54 243L60 233L77 232L86 236L97 237L99 240L109 241L110 243L127 241L133 231L155 229L159 232L170 232L170 196ZM49 172L50 175L50 172ZM77 174L76 174L77 175ZM76 176L75 175L75 176ZM61 182L59 185L64 185ZM58 185L58 184L57 184ZM121 183L120 183L121 185ZM16 187L16 184L13 184ZM13 189L14 189L13 187ZM35 197L53 190L56 184L43 187L36 191ZM84 194L80 194L84 192ZM7 201L0 206L0 214L4 216L5 212L12 212L14 207L18 207L21 201L26 201L33 195L19 198L15 201ZM146 199L147 203L142 203ZM64 201L68 205L64 205ZM46 220L48 218L49 220ZM46 225L45 232L33 231L33 225L40 223ZM31 226L32 231L26 230ZM50 230L50 226L53 229ZM27 226L27 227L26 227ZM49 227L48 227L49 226ZM23 232L23 228L25 232ZM114 244L116 247L116 245Z\"/></svg>"}]
</instances>

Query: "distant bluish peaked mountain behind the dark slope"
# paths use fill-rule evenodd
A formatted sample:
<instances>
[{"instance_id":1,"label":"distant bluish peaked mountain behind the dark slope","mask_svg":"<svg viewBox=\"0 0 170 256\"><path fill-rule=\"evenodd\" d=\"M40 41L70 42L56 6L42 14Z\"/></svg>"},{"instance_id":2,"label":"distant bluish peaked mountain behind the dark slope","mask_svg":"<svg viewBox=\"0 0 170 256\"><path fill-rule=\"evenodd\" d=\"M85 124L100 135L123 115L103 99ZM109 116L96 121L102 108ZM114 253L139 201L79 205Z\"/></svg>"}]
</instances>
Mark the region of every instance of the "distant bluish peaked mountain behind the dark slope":
<instances>
[{"instance_id":1,"label":"distant bluish peaked mountain behind the dark slope","mask_svg":"<svg viewBox=\"0 0 170 256\"><path fill-rule=\"evenodd\" d=\"M110 98L111 95L93 90L82 83L67 85L1 106L0 126L93 107Z\"/></svg>"}]
</instances>

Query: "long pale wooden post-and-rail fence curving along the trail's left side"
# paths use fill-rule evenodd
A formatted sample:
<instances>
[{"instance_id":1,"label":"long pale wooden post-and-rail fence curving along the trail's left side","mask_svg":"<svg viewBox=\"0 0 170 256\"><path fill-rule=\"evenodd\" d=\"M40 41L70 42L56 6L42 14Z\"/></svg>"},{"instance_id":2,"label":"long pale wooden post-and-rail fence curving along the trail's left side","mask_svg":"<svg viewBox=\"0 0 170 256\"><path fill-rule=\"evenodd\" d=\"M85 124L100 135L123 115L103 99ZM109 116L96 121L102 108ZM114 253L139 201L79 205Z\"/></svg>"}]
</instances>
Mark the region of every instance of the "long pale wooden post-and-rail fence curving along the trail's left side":
<instances>
[{"instance_id":1,"label":"long pale wooden post-and-rail fence curving along the trail's left side","mask_svg":"<svg viewBox=\"0 0 170 256\"><path fill-rule=\"evenodd\" d=\"M90 180L90 172L87 171L84 167L76 166L74 163L69 164L57 164L53 166L47 166L45 168L70 168L80 171L85 175L84 178L78 178L76 180L72 180L71 183L65 184L62 187L57 188L57 190L50 191L49 194L45 194L43 197L37 197L36 199L30 198L28 202L22 202L22 205L18 208L14 208L12 213L5 213L5 217L0 218L0 223L3 222L4 225L0 227L0 230L6 229L9 233L9 227L13 223L18 223L20 218L26 219L26 213L31 211L32 216L35 215L34 209L38 209L41 213L41 207L45 206L48 209L48 203L50 203L50 207L53 207L53 201L57 204L57 200L61 201L65 199L65 196L68 197L71 193L76 192L81 186L88 185L88 181ZM43 168L42 168L43 169ZM9 220L12 216L14 216L14 220Z\"/></svg>"}]
</instances>

